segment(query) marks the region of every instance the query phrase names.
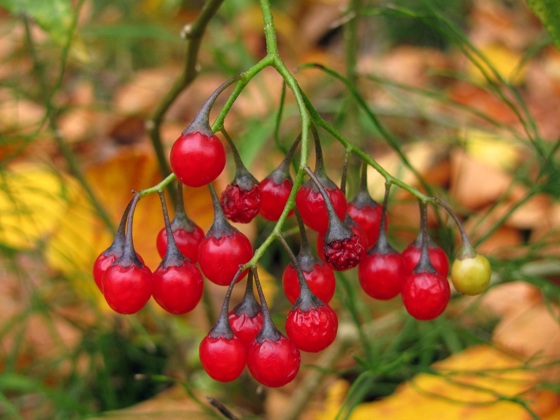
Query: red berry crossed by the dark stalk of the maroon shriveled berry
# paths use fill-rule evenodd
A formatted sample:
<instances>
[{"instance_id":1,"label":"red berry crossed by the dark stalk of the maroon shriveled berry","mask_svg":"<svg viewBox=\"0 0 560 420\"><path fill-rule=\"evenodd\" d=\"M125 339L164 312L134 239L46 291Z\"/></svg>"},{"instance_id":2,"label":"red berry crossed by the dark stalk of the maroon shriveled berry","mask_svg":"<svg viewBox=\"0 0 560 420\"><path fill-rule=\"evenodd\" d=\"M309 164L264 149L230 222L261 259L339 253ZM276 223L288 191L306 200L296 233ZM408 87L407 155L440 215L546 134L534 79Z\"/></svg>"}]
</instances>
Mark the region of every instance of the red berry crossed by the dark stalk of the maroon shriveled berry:
<instances>
[{"instance_id":1,"label":"red berry crossed by the dark stalk of the maroon shriveled berry","mask_svg":"<svg viewBox=\"0 0 560 420\"><path fill-rule=\"evenodd\" d=\"M301 218L305 225L317 232L326 232L329 226L329 218L326 212L325 201L319 191L315 192L311 188L310 181L307 181L296 194L296 206L300 211ZM311 181L312 182L312 181ZM340 188L325 188L326 193L333 203L335 213L340 220L346 215L346 197Z\"/></svg>"}]
</instances>

